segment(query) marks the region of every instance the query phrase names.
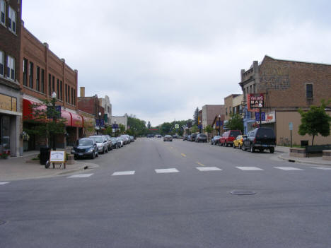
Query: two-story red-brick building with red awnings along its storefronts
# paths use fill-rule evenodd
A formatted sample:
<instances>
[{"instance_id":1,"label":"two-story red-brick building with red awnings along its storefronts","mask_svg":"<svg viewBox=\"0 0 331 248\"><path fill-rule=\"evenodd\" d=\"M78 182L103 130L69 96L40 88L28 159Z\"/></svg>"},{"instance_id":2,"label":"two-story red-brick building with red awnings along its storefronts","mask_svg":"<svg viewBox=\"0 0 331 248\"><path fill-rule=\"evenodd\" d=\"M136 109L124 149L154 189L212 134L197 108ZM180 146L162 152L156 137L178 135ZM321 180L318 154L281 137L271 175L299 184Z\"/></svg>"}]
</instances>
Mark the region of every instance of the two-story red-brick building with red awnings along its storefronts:
<instances>
[{"instance_id":1,"label":"two-story red-brick building with red awnings along its storefronts","mask_svg":"<svg viewBox=\"0 0 331 248\"><path fill-rule=\"evenodd\" d=\"M64 59L59 59L47 43L42 43L21 25L21 61L20 83L23 95L23 129L33 128L30 120L30 106L41 103L40 100L51 100L56 93L56 105L61 106L61 116L66 119L66 134L56 138L56 146L72 146L79 134L82 134L83 117L77 112L78 71L71 69ZM47 138L30 136L24 141L24 150L38 149L47 146Z\"/></svg>"}]
</instances>

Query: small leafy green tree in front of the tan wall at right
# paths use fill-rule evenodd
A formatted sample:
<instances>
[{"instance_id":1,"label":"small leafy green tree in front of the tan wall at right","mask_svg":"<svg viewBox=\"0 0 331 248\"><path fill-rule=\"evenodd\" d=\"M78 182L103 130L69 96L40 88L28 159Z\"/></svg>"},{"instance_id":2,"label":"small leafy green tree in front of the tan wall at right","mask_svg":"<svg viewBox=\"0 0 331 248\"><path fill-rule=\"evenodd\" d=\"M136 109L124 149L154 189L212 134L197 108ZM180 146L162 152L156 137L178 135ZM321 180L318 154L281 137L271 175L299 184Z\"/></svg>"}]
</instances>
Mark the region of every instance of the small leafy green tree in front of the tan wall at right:
<instances>
[{"instance_id":1,"label":"small leafy green tree in front of the tan wall at right","mask_svg":"<svg viewBox=\"0 0 331 248\"><path fill-rule=\"evenodd\" d=\"M313 136L311 142L314 145L314 138L318 134L322 136L330 135L330 122L331 117L325 112L325 107L331 102L331 100L325 102L321 101L320 107L310 106L310 110L304 112L303 110L298 110L301 114L301 124L298 127L298 134L301 136L308 134Z\"/></svg>"}]
</instances>

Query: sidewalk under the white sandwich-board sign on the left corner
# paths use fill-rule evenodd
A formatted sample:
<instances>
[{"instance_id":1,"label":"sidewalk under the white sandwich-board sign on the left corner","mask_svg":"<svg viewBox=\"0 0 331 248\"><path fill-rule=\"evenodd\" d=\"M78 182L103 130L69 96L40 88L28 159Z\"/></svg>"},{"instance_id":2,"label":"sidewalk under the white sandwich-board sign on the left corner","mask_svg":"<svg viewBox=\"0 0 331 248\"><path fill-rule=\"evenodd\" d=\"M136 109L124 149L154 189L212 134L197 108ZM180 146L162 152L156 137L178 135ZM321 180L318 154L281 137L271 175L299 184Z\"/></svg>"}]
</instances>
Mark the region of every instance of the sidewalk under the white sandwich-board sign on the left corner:
<instances>
[{"instance_id":1,"label":"sidewalk under the white sandwich-board sign on the left corner","mask_svg":"<svg viewBox=\"0 0 331 248\"><path fill-rule=\"evenodd\" d=\"M91 163L93 160L75 160L74 165L66 165L66 169L62 169L62 167L59 169L59 165L56 165L55 169L52 169L52 165L46 169L45 165L40 165L39 161L26 163L26 160L35 158L38 153L38 151L30 151L24 153L22 157L0 159L0 182L69 175L74 172L90 171L98 167L98 165ZM86 166L88 169L84 170Z\"/></svg>"}]
</instances>

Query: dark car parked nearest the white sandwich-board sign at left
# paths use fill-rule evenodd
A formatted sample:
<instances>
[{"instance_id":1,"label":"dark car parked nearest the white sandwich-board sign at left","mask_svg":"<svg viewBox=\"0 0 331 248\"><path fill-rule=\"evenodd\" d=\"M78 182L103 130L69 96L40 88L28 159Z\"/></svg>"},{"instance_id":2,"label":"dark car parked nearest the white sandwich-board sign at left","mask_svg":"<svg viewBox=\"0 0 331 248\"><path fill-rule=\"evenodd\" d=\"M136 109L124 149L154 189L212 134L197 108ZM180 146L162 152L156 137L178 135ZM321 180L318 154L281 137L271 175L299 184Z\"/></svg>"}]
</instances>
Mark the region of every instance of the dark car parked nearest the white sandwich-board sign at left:
<instances>
[{"instance_id":1,"label":"dark car parked nearest the white sandwich-board sign at left","mask_svg":"<svg viewBox=\"0 0 331 248\"><path fill-rule=\"evenodd\" d=\"M83 157L95 158L99 155L98 146L92 138L79 138L76 141L76 146L71 149L71 154L76 159Z\"/></svg>"}]
</instances>

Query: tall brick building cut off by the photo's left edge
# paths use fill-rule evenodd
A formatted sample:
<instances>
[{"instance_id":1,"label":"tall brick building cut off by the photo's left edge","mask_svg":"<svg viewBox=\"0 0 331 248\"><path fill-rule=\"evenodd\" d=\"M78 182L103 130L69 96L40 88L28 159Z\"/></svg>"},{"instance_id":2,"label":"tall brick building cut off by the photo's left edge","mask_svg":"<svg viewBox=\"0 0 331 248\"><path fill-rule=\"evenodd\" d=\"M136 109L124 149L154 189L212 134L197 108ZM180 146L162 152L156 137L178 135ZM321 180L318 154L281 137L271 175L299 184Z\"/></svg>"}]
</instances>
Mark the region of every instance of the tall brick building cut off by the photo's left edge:
<instances>
[{"instance_id":1,"label":"tall brick building cut off by the photo's left edge","mask_svg":"<svg viewBox=\"0 0 331 248\"><path fill-rule=\"evenodd\" d=\"M21 106L21 8L17 0L0 0L0 153L23 154Z\"/></svg>"}]
</instances>

